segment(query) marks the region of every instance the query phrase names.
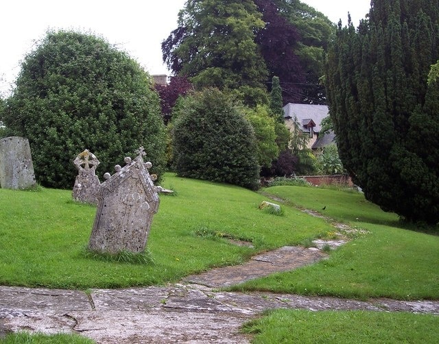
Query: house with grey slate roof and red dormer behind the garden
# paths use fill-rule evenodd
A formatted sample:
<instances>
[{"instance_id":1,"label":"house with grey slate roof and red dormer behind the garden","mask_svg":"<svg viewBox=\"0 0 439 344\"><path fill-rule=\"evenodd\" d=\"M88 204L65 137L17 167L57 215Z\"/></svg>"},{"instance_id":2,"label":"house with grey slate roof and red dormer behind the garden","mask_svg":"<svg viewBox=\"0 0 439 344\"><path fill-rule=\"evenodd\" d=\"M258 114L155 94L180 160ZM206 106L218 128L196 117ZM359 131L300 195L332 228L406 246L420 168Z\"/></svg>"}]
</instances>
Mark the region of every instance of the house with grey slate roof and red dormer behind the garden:
<instances>
[{"instance_id":1,"label":"house with grey slate roof and red dormer behind the garden","mask_svg":"<svg viewBox=\"0 0 439 344\"><path fill-rule=\"evenodd\" d=\"M308 148L313 150L323 148L335 142L335 134L320 134L322 119L329 116L329 108L326 105L287 103L283 107L285 125L289 131L293 130L294 121L298 123L300 130L309 135Z\"/></svg>"}]
</instances>

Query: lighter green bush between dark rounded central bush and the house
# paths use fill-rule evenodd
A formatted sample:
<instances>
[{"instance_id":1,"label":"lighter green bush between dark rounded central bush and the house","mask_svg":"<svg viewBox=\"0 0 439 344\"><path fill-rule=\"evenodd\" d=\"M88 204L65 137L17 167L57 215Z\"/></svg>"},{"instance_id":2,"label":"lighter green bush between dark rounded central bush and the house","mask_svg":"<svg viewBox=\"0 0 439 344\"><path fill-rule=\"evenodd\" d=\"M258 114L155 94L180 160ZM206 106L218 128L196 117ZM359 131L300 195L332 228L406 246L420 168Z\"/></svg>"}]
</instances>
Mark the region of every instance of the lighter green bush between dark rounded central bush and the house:
<instances>
[{"instance_id":1,"label":"lighter green bush between dark rounded central bush and the house","mask_svg":"<svg viewBox=\"0 0 439 344\"><path fill-rule=\"evenodd\" d=\"M253 127L257 141L257 156L261 167L270 167L272 160L278 158L279 148L276 144L276 122L268 113L267 106L243 109L246 119Z\"/></svg>"}]
</instances>

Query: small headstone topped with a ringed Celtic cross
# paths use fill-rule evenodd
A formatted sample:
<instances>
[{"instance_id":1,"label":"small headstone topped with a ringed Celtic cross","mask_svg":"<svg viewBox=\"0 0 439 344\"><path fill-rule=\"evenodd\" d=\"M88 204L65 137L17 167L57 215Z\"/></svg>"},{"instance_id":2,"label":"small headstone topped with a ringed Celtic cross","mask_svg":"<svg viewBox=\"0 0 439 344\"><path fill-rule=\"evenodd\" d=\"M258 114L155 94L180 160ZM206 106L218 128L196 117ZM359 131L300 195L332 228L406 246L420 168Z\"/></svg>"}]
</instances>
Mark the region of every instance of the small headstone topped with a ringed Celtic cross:
<instances>
[{"instance_id":1,"label":"small headstone topped with a ringed Celtic cross","mask_svg":"<svg viewBox=\"0 0 439 344\"><path fill-rule=\"evenodd\" d=\"M97 192L99 191L99 178L95 174L99 160L95 154L85 149L73 160L78 169L78 175L73 186L72 197L82 203L97 204Z\"/></svg>"}]
</instances>

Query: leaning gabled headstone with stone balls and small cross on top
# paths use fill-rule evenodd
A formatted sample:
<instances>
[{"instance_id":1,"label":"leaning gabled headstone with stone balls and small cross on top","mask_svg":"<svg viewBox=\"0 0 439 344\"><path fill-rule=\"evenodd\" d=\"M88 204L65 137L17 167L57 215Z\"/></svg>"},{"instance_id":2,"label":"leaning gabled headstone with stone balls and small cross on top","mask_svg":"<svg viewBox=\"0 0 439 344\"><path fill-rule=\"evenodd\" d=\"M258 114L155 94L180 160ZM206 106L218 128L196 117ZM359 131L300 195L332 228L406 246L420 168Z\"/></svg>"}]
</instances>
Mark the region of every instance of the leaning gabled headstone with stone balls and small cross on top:
<instances>
[{"instance_id":1,"label":"leaning gabled headstone with stone balls and small cross on top","mask_svg":"<svg viewBox=\"0 0 439 344\"><path fill-rule=\"evenodd\" d=\"M134 160L115 166L116 173L106 173L99 187L97 211L88 248L92 251L117 254L121 251L141 253L150 232L152 217L158 210L158 193L154 175L143 162L143 147Z\"/></svg>"}]
</instances>

